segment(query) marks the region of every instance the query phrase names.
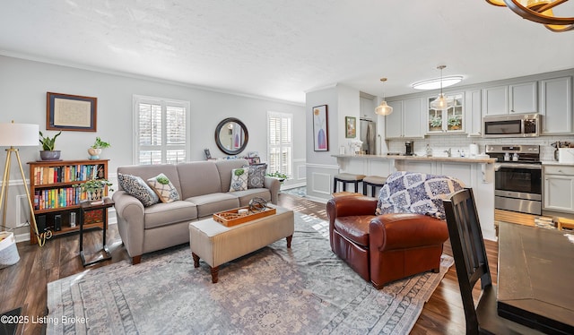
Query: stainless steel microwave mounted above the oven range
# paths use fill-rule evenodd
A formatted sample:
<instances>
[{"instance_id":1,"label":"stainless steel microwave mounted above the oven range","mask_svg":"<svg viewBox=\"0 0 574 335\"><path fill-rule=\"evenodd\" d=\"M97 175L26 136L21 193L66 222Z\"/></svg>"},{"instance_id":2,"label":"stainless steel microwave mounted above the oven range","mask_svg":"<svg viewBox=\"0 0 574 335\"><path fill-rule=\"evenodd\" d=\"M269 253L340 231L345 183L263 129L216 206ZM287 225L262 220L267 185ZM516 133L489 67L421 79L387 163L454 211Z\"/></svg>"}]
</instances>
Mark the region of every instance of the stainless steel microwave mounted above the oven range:
<instances>
[{"instance_id":1,"label":"stainless steel microwave mounted above the oven range","mask_svg":"<svg viewBox=\"0 0 574 335\"><path fill-rule=\"evenodd\" d=\"M540 135L541 115L484 116L483 137L535 137Z\"/></svg>"}]
</instances>

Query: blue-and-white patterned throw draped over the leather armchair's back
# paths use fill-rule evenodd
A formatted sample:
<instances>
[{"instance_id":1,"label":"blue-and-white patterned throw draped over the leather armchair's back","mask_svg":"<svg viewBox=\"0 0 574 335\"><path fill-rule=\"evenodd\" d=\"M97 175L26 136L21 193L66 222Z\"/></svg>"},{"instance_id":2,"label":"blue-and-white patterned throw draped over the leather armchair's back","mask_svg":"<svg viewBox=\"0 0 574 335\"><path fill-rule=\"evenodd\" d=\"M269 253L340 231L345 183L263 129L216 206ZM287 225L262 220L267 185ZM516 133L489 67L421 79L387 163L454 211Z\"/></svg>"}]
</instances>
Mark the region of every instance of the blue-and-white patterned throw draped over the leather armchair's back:
<instances>
[{"instance_id":1,"label":"blue-and-white patterned throw draped over the leather armchair's back","mask_svg":"<svg viewBox=\"0 0 574 335\"><path fill-rule=\"evenodd\" d=\"M446 219L442 200L463 188L465 184L451 176L397 171L380 190L376 214L417 213Z\"/></svg>"}]
</instances>

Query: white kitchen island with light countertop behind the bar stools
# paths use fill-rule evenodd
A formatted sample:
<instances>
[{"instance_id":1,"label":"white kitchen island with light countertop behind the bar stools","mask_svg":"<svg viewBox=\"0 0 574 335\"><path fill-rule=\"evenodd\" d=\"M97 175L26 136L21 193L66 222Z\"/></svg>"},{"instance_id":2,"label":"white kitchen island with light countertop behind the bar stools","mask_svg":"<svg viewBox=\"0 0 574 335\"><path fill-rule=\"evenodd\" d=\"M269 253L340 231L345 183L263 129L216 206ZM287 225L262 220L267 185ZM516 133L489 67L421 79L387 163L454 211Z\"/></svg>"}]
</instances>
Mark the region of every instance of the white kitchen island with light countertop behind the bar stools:
<instances>
[{"instance_id":1,"label":"white kitchen island with light countertop behind the bar stools","mask_svg":"<svg viewBox=\"0 0 574 335\"><path fill-rule=\"evenodd\" d=\"M494 228L494 163L486 156L424 157L399 155L333 155L339 172L366 176L388 176L395 171L454 176L472 187L483 228L483 237L496 240Z\"/></svg>"}]
</instances>

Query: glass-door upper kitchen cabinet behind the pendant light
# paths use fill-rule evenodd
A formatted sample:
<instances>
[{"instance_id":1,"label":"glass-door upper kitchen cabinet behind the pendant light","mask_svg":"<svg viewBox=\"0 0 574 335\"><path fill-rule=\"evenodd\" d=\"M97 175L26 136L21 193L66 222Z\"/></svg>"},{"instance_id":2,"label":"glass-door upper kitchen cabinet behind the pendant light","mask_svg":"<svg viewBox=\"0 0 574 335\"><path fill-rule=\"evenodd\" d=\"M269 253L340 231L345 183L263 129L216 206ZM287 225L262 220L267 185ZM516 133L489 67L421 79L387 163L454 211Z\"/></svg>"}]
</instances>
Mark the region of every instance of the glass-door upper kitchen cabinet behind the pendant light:
<instances>
[{"instance_id":1,"label":"glass-door upper kitchen cabinet behind the pendant light","mask_svg":"<svg viewBox=\"0 0 574 335\"><path fill-rule=\"evenodd\" d=\"M426 132L428 134L465 132L464 94L451 93L447 96L455 99L455 105L446 110L436 110L431 107L431 102L437 97L428 99L426 124Z\"/></svg>"}]
</instances>

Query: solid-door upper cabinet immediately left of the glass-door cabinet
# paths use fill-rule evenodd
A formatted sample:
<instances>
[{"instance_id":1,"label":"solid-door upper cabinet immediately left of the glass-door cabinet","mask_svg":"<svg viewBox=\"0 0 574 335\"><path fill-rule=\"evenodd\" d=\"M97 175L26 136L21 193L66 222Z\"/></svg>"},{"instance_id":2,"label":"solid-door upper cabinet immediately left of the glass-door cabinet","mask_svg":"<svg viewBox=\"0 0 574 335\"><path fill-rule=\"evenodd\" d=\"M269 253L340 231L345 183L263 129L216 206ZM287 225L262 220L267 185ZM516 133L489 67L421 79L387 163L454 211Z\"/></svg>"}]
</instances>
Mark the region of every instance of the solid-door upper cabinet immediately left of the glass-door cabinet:
<instances>
[{"instance_id":1,"label":"solid-door upper cabinet immediately left of the glass-door cabinet","mask_svg":"<svg viewBox=\"0 0 574 335\"><path fill-rule=\"evenodd\" d=\"M422 98L389 101L393 113L385 116L385 138L422 138Z\"/></svg>"}]
</instances>

